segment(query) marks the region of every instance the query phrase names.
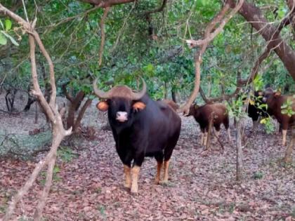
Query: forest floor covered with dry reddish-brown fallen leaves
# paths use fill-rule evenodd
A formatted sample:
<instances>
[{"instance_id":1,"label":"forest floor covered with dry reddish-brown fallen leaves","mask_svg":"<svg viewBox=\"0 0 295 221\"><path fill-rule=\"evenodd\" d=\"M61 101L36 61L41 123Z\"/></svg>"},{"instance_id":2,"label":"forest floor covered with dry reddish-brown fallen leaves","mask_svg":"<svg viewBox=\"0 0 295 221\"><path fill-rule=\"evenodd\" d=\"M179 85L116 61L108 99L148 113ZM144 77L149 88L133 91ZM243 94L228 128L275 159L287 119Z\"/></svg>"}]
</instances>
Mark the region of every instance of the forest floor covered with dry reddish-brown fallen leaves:
<instances>
[{"instance_id":1,"label":"forest floor covered with dry reddish-brown fallen leaves","mask_svg":"<svg viewBox=\"0 0 295 221\"><path fill-rule=\"evenodd\" d=\"M18 122L15 131L28 133L36 127L29 126L33 119L32 113L9 117L1 113L0 125L4 121L11 126ZM199 126L192 117L182 120L181 136L171 158L169 184L154 184L157 163L146 158L140 169L138 195L133 195L123 187L123 166L112 133L102 128L106 116L98 114L93 103L84 124L96 126L96 139L84 140L78 149L64 148L59 152L43 220L295 219L295 163L282 165L286 147L280 145L281 135L267 135L262 128L250 133L251 121L246 121L244 180L237 183L236 151L225 130L221 133L224 153L214 143L216 150L204 154ZM232 126L231 130L234 137ZM37 159L41 156L44 154ZM0 220L11 196L33 168L33 161L0 159ZM19 203L15 220L30 220L44 179L44 173L39 175Z\"/></svg>"}]
</instances>

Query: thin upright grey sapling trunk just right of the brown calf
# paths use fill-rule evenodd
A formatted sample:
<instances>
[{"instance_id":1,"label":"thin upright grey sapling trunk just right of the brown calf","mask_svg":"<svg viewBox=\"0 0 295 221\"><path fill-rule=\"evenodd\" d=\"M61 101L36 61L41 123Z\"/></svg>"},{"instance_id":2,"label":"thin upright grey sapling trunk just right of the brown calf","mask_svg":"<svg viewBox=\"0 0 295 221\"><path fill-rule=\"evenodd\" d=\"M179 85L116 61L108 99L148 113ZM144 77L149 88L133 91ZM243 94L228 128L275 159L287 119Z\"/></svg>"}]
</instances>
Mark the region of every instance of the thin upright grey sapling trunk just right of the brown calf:
<instances>
[{"instance_id":1,"label":"thin upright grey sapling trunk just right of the brown calf","mask_svg":"<svg viewBox=\"0 0 295 221\"><path fill-rule=\"evenodd\" d=\"M236 121L236 132L235 140L237 147L237 181L241 181L243 178L243 152L242 152L242 133L241 133L241 120L237 119Z\"/></svg>"}]
</instances>

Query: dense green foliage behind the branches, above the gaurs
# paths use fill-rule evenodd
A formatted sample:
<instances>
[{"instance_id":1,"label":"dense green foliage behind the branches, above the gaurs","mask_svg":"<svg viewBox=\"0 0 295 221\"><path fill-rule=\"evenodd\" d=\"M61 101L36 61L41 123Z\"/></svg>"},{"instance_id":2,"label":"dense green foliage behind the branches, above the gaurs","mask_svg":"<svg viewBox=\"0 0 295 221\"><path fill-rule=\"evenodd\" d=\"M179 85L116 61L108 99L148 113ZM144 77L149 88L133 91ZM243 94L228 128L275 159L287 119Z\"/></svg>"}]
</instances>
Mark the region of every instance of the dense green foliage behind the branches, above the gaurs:
<instances>
[{"instance_id":1,"label":"dense green foliage behind the branches, above the gaurs","mask_svg":"<svg viewBox=\"0 0 295 221\"><path fill-rule=\"evenodd\" d=\"M27 1L27 15L33 20L37 15L37 31L55 63L58 86L70 82L74 91L91 93L91 82L100 79L100 86L107 89L113 84L126 83L136 88L137 76L147 80L150 94L154 98L170 97L171 91L178 92L185 99L192 90L195 78L193 55L183 39L199 39L204 27L221 9L221 1L171 1L164 11L147 14L158 8L162 1L138 1L111 8L105 20L105 49L103 65L98 66L100 48L100 19L103 9L91 10L93 6L81 1ZM21 2L4 1L4 6L25 18ZM280 22L289 9L284 1L258 1L257 6L269 22ZM3 23L7 19L2 17ZM9 22L11 22L9 20ZM9 27L8 22L8 27ZM4 25L5 26L5 25ZM18 25L4 27L14 42L1 39L1 74L5 83L27 89L30 65L27 36L22 35ZM282 30L284 39L293 45L293 29ZM10 46L11 45L11 46ZM223 32L219 34L206 51L202 63L201 86L206 95L216 97L221 93L235 91L237 72L247 78L256 58L263 51L265 41L240 15L236 15ZM196 49L198 50L198 49ZM39 71L43 69L44 58L39 56ZM272 53L263 62L263 86L294 91L291 77ZM46 81L46 77L44 77ZM44 85L45 83L43 83ZM58 92L61 92L60 87Z\"/></svg>"}]
</instances>

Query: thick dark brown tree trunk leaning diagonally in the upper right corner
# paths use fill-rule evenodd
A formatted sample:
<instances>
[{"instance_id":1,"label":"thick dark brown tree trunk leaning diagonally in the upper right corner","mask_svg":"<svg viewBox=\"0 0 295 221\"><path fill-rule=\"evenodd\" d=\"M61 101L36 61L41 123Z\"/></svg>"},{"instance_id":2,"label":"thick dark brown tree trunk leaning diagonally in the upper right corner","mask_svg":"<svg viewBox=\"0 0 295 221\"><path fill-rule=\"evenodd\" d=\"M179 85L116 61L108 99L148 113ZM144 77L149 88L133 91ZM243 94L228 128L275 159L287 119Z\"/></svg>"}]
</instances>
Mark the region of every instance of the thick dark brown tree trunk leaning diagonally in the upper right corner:
<instances>
[{"instance_id":1,"label":"thick dark brown tree trunk leaning diagonally in the upper right corner","mask_svg":"<svg viewBox=\"0 0 295 221\"><path fill-rule=\"evenodd\" d=\"M235 6L233 0L227 1L231 6ZM263 36L265 41L269 42L269 48L275 48L275 53L277 53L280 60L282 60L284 67L286 67L289 74L295 80L295 53L280 36L280 29L271 25L268 20L264 18L261 10L253 4L249 4L247 1L244 1L239 13L258 31L259 34L261 34L261 36Z\"/></svg>"}]
</instances>

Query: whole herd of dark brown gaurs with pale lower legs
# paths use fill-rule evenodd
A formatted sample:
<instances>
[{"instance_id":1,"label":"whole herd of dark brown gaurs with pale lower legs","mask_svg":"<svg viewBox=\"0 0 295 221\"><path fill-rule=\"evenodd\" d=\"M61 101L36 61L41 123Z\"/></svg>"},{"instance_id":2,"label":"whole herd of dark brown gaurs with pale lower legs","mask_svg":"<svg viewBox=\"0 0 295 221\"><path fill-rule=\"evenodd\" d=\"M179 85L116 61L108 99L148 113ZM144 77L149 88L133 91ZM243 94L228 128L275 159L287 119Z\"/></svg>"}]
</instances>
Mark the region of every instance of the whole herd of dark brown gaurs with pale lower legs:
<instances>
[{"instance_id":1,"label":"whole herd of dark brown gaurs with pale lower legs","mask_svg":"<svg viewBox=\"0 0 295 221\"><path fill-rule=\"evenodd\" d=\"M140 92L134 92L128 86L114 86L104 92L98 89L97 81L93 82L94 93L100 98L97 108L107 111L116 150L124 166L124 187L131 189L131 193L138 192L138 174L145 156L154 156L157 161L155 183L168 182L169 161L181 133L181 117L176 113L179 106L171 100L154 101L149 98L146 83L143 79L142 81L143 88ZM275 116L282 126L282 145L285 145L287 129L295 121L295 115L282 114L281 106L286 100L295 99L271 89L256 91L254 98L258 105L250 102L247 109L254 125L259 116ZM261 103L267 104L268 108L258 108ZM292 109L295 110L295 103ZM186 116L193 116L199 123L202 145L206 144L210 122L217 137L223 124L228 130L228 140L231 141L225 105L194 104ZM164 175L161 179L162 168Z\"/></svg>"}]
</instances>

